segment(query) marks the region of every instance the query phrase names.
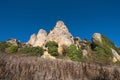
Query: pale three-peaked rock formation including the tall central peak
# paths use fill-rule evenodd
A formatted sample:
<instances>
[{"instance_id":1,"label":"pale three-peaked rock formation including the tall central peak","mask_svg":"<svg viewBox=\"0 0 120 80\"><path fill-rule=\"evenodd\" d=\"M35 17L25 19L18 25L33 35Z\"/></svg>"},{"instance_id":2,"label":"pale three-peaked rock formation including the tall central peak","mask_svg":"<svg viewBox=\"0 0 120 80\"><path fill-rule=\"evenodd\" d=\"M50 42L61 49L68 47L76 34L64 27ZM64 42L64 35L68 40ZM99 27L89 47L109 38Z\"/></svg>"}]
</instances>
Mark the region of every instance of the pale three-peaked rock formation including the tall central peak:
<instances>
[{"instance_id":1,"label":"pale three-peaked rock formation including the tall central peak","mask_svg":"<svg viewBox=\"0 0 120 80\"><path fill-rule=\"evenodd\" d=\"M33 34L27 44L31 44L33 47L43 47L46 42L55 41L58 43L58 52L62 54L62 46L70 46L74 43L73 36L68 31L66 25L62 21L58 21L53 30L47 35L47 32L41 29L37 36Z\"/></svg>"}]
</instances>

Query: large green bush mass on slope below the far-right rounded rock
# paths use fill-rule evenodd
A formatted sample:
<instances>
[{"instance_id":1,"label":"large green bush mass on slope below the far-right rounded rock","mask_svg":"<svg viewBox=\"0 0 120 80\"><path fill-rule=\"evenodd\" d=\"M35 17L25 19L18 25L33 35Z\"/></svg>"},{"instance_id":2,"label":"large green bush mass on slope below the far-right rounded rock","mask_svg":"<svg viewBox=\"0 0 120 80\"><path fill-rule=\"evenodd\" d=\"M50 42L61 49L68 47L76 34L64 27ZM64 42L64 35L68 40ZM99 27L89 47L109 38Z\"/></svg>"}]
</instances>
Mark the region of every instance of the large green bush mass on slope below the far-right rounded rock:
<instances>
[{"instance_id":1,"label":"large green bush mass on slope below the far-right rounded rock","mask_svg":"<svg viewBox=\"0 0 120 80\"><path fill-rule=\"evenodd\" d=\"M107 64L112 62L113 54L111 48L116 50L115 45L104 35L101 35L102 42L94 41L94 51L96 54L92 55L93 59L97 63Z\"/></svg>"}]
</instances>

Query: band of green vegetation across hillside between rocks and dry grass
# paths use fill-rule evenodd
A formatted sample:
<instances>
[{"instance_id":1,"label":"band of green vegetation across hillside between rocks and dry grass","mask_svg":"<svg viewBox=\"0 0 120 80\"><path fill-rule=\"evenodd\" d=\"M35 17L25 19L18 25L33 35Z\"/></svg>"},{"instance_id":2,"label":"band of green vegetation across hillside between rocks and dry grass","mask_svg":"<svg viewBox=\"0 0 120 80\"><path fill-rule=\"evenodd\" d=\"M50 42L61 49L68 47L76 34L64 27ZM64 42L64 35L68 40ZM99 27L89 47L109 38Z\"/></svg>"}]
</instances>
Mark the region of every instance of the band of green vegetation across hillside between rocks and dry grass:
<instances>
[{"instance_id":1,"label":"band of green vegetation across hillside between rocks and dry grass","mask_svg":"<svg viewBox=\"0 0 120 80\"><path fill-rule=\"evenodd\" d=\"M48 50L49 54L57 58L70 59L80 62L110 64L113 61L111 48L115 49L117 52L120 52L120 49L117 48L114 43L104 35L101 35L101 38L102 42L99 42L97 40L93 40L92 42L89 42L87 40L80 41L79 45L81 47L77 47L75 44L72 44L69 47L63 45L62 56L58 53L58 43L55 41L48 41L45 44L45 47ZM86 50L88 52L87 57L83 56L83 50ZM43 47L32 46L18 47L7 42L0 42L0 52L42 56L44 49Z\"/></svg>"}]
</instances>

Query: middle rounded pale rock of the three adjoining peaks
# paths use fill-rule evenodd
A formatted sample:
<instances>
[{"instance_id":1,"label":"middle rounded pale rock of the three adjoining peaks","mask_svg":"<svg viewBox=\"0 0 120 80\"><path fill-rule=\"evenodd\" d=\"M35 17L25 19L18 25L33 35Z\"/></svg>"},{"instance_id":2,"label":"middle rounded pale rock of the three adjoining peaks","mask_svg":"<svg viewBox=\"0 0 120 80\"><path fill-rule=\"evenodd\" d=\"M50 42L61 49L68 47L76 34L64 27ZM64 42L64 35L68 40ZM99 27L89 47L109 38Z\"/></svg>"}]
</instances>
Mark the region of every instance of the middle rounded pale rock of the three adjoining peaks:
<instances>
[{"instance_id":1,"label":"middle rounded pale rock of the three adjoining peaks","mask_svg":"<svg viewBox=\"0 0 120 80\"><path fill-rule=\"evenodd\" d=\"M37 39L36 39L36 42L35 44L33 45L34 47L36 46L44 46L45 42L46 42L46 39L47 39L47 32L43 29L40 29L38 34L37 34Z\"/></svg>"}]
</instances>

